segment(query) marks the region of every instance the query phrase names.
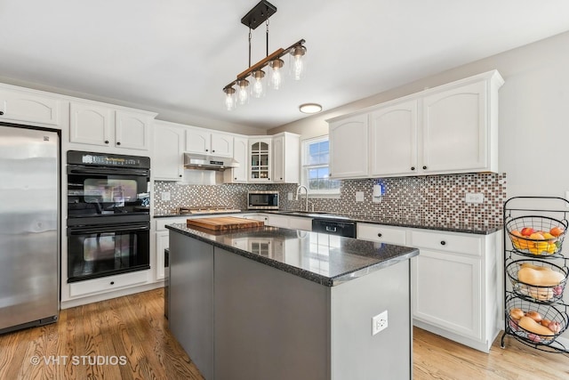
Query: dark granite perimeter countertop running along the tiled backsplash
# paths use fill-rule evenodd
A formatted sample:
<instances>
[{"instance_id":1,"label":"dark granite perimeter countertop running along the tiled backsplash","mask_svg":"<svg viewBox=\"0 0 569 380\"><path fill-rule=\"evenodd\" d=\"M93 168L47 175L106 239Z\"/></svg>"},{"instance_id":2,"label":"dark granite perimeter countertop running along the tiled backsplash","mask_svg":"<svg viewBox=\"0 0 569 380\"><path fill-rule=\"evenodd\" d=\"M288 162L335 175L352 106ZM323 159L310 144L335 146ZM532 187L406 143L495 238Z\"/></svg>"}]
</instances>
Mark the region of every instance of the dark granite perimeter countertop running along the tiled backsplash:
<instances>
[{"instance_id":1,"label":"dark granite perimeter countertop running along the tiled backsplash","mask_svg":"<svg viewBox=\"0 0 569 380\"><path fill-rule=\"evenodd\" d=\"M462 232L462 233L473 233L477 235L489 235L497 230L501 230L503 225L489 222L453 222L453 221L426 221L422 219L405 219L390 216L374 216L374 215L350 215L350 214L333 214L333 213L305 213L305 212L295 212L293 210L283 210L283 211L249 211L234 213L237 214L282 214L288 216L301 216L307 218L321 218L321 219L336 219L342 221L350 222L365 222L373 224L381 224L395 227L407 227L407 228L417 228L425 230L445 230L450 232ZM211 214L216 216L215 214ZM219 215L219 214L218 214ZM155 218L163 217L180 217L180 216L191 216L191 215L181 215L181 214L160 214L154 215Z\"/></svg>"}]
</instances>

